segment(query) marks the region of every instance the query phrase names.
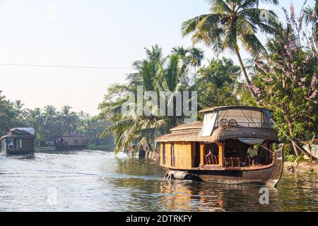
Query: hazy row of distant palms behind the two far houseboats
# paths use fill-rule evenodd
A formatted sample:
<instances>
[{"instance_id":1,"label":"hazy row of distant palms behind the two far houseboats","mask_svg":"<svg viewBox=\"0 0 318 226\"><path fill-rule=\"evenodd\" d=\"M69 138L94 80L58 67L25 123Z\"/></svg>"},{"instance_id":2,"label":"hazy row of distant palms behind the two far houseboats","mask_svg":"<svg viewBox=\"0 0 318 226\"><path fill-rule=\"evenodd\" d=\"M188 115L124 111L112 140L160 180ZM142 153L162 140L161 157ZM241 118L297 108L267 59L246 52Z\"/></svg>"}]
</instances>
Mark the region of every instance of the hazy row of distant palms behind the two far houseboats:
<instances>
[{"instance_id":1,"label":"hazy row of distant palms behind the two far houseboats","mask_svg":"<svg viewBox=\"0 0 318 226\"><path fill-rule=\"evenodd\" d=\"M35 145L40 149L54 145L54 139L62 133L81 133L85 135L90 144L112 145L112 136L100 139L100 133L107 126L107 121L98 117L90 117L84 112L76 113L71 107L64 106L60 111L54 106L44 109L23 109L20 101L6 100L0 93L0 136L13 127L35 128ZM52 149L52 148L51 148Z\"/></svg>"}]
</instances>

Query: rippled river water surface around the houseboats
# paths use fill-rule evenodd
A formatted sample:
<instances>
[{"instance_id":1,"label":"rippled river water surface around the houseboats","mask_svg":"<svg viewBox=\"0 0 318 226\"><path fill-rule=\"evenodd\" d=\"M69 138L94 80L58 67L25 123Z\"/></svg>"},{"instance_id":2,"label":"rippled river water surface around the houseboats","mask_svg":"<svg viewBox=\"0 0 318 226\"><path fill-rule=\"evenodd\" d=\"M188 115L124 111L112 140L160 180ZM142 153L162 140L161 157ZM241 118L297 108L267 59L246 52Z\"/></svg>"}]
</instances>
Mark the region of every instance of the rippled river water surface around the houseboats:
<instances>
[{"instance_id":1,"label":"rippled river water surface around the houseboats","mask_svg":"<svg viewBox=\"0 0 318 226\"><path fill-rule=\"evenodd\" d=\"M169 182L147 160L100 151L0 155L0 211L318 211L317 176L259 186Z\"/></svg>"}]
</instances>

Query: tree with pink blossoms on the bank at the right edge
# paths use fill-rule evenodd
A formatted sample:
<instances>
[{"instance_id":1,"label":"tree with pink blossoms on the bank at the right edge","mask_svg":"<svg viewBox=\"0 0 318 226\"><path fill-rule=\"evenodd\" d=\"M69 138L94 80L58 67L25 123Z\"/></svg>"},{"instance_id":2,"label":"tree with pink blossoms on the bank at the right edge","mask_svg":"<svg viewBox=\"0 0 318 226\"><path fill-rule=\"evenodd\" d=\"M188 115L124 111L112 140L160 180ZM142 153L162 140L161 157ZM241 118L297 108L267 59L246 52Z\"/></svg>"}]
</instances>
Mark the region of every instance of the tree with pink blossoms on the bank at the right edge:
<instances>
[{"instance_id":1,"label":"tree with pink blossoms on the bank at the right edge","mask_svg":"<svg viewBox=\"0 0 318 226\"><path fill-rule=\"evenodd\" d=\"M293 144L295 154L309 155L301 142L317 133L317 42L305 32L304 14L296 18L293 5L285 11L287 26L269 40L266 62L255 62L252 89L259 104L273 109L281 138Z\"/></svg>"}]
</instances>

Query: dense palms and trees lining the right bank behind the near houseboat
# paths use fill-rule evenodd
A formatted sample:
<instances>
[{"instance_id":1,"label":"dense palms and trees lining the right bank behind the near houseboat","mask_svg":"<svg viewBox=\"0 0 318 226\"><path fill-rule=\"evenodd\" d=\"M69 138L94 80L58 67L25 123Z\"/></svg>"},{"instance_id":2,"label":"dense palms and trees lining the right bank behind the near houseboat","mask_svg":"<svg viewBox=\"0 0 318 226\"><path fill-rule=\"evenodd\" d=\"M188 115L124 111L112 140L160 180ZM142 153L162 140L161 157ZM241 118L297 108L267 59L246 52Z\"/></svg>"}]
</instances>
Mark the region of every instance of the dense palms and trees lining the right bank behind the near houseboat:
<instances>
[{"instance_id":1,"label":"dense palms and trees lining the right bank behind the near houseboat","mask_svg":"<svg viewBox=\"0 0 318 226\"><path fill-rule=\"evenodd\" d=\"M278 4L276 0L263 2ZM302 148L302 141L318 134L318 4L304 5L298 16L291 5L290 15L284 9L285 21L281 23L273 11L259 8L258 0L208 3L210 13L185 21L182 35L191 34L194 44L202 42L216 54L232 52L240 67L230 59L212 59L201 66L204 52L199 49L175 47L166 57L157 45L146 49L147 58L134 64L137 73L127 77L128 83L113 85L100 104L101 117L112 124L103 135L114 134L117 151L141 138L153 145L155 137L182 124L184 117L123 117L120 108L127 92L136 93L137 85L143 85L144 92L197 90L199 109L251 105L273 110L281 142L290 147L285 157L294 160L310 155ZM258 32L269 35L265 43L257 38ZM243 61L242 49L252 59ZM194 52L199 56L195 64L189 60L195 59L191 56Z\"/></svg>"}]
</instances>

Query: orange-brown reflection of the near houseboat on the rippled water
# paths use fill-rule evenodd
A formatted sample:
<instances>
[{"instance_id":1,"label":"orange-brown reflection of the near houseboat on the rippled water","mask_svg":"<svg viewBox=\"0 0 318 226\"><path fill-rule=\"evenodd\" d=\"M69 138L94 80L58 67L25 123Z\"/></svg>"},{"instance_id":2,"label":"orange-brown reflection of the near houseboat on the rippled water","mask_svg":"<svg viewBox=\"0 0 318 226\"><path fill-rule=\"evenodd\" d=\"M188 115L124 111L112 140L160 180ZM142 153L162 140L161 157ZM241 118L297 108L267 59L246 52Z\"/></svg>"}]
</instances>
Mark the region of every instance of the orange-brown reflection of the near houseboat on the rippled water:
<instances>
[{"instance_id":1,"label":"orange-brown reflection of the near houseboat on the rippled water","mask_svg":"<svg viewBox=\"0 0 318 226\"><path fill-rule=\"evenodd\" d=\"M282 211L280 194L269 189L270 200L276 205L262 205L259 202L260 186L224 185L211 182L165 181L160 191L171 196L162 196L162 203L169 210L194 210L199 212L225 211ZM278 203L277 203L278 201Z\"/></svg>"}]
</instances>

